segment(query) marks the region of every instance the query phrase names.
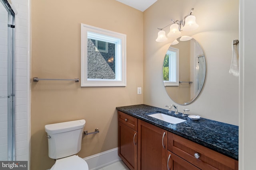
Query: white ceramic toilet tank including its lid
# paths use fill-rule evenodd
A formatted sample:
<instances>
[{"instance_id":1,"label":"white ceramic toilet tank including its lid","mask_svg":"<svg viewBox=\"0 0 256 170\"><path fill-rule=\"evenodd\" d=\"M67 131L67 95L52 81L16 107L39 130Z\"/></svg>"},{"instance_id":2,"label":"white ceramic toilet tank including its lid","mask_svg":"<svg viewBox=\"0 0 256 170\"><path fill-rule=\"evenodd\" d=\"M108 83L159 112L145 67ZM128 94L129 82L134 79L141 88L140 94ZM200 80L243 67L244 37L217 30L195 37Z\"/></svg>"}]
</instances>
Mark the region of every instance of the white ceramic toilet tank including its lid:
<instances>
[{"instance_id":1,"label":"white ceramic toilet tank including its lid","mask_svg":"<svg viewBox=\"0 0 256 170\"><path fill-rule=\"evenodd\" d=\"M84 125L84 119L45 125L48 156L58 159L78 153L81 150Z\"/></svg>"}]
</instances>

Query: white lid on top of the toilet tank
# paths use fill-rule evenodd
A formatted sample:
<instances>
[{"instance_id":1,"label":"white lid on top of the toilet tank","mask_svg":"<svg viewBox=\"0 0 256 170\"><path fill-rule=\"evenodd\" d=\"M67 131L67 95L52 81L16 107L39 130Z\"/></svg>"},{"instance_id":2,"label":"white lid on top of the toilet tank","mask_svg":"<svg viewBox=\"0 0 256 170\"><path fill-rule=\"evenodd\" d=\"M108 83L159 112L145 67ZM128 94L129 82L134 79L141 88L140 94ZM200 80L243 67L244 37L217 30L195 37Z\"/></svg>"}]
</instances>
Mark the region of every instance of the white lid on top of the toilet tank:
<instances>
[{"instance_id":1,"label":"white lid on top of the toilet tank","mask_svg":"<svg viewBox=\"0 0 256 170\"><path fill-rule=\"evenodd\" d=\"M62 133L67 131L74 131L76 129L83 129L85 125L85 120L75 120L67 121L62 123L54 123L50 125L45 125L45 131L48 134Z\"/></svg>"}]
</instances>

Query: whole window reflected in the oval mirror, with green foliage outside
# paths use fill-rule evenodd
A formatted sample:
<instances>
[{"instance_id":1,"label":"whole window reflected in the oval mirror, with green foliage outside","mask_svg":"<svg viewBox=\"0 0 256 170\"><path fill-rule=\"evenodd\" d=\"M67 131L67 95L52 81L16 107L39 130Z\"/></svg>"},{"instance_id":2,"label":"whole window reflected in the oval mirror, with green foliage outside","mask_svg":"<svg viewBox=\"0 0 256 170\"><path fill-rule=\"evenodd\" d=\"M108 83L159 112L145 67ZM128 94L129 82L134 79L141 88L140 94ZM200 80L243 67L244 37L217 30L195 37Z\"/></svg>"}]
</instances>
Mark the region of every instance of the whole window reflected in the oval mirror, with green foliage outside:
<instances>
[{"instance_id":1,"label":"whole window reflected in the oval mirror, with green foliage outside","mask_svg":"<svg viewBox=\"0 0 256 170\"><path fill-rule=\"evenodd\" d=\"M179 49L170 47L164 57L164 86L179 86Z\"/></svg>"}]
</instances>

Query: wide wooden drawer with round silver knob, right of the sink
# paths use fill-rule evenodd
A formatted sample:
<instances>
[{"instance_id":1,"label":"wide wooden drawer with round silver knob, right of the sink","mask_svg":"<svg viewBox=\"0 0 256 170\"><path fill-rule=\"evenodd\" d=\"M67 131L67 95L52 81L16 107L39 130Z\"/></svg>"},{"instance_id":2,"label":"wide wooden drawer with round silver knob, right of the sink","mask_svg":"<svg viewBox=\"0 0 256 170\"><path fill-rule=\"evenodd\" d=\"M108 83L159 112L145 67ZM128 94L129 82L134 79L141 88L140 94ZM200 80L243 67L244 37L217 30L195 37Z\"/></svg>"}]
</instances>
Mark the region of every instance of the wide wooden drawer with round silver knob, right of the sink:
<instances>
[{"instance_id":1,"label":"wide wooden drawer with round silver knob, right of the sink","mask_svg":"<svg viewBox=\"0 0 256 170\"><path fill-rule=\"evenodd\" d=\"M238 161L168 132L168 150L202 170L238 170ZM196 158L194 154L200 157Z\"/></svg>"}]
</instances>

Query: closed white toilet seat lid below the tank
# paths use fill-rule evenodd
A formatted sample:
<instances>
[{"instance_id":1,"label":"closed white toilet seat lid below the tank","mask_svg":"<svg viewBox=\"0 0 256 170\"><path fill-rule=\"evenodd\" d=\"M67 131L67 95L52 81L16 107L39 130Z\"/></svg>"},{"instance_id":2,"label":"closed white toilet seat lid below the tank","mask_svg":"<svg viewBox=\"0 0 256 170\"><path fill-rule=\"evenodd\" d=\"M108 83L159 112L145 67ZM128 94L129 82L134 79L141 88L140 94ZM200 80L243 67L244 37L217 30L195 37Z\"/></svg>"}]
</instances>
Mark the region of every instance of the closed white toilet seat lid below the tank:
<instances>
[{"instance_id":1,"label":"closed white toilet seat lid below the tank","mask_svg":"<svg viewBox=\"0 0 256 170\"><path fill-rule=\"evenodd\" d=\"M84 159L77 155L57 159L50 170L89 170Z\"/></svg>"}]
</instances>

